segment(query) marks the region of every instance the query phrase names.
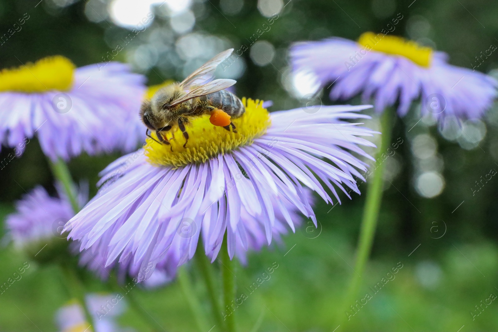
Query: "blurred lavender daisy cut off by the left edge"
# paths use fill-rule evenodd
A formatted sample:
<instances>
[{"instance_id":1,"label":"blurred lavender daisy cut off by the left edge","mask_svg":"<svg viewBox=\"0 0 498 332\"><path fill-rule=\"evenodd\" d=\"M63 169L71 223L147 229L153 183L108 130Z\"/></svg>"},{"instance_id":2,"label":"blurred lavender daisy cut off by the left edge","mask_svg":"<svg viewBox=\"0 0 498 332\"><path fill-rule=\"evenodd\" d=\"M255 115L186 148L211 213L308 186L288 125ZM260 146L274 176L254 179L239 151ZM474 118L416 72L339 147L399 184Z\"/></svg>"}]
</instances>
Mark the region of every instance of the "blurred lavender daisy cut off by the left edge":
<instances>
[{"instance_id":1,"label":"blurred lavender daisy cut off by the left edge","mask_svg":"<svg viewBox=\"0 0 498 332\"><path fill-rule=\"evenodd\" d=\"M36 134L52 160L82 152L132 151L143 137L136 116L143 82L142 75L131 73L124 64L76 68L62 56L4 69L0 142L20 155L29 142L25 138Z\"/></svg>"}]
</instances>

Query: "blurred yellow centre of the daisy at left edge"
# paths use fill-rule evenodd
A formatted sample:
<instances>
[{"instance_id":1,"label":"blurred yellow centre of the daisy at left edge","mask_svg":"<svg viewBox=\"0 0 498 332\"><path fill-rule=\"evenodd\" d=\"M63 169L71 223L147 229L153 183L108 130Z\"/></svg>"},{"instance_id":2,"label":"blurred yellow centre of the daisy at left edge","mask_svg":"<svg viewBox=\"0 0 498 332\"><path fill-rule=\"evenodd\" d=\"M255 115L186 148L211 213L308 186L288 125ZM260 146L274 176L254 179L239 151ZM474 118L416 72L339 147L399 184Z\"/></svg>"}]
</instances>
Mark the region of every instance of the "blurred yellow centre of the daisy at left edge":
<instances>
[{"instance_id":1,"label":"blurred yellow centre of the daisy at left edge","mask_svg":"<svg viewBox=\"0 0 498 332\"><path fill-rule=\"evenodd\" d=\"M75 69L71 60L60 55L46 57L18 68L3 69L0 71L0 91L68 91L73 85Z\"/></svg>"}]
</instances>

